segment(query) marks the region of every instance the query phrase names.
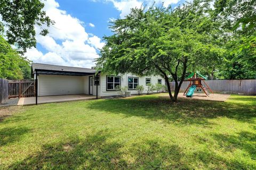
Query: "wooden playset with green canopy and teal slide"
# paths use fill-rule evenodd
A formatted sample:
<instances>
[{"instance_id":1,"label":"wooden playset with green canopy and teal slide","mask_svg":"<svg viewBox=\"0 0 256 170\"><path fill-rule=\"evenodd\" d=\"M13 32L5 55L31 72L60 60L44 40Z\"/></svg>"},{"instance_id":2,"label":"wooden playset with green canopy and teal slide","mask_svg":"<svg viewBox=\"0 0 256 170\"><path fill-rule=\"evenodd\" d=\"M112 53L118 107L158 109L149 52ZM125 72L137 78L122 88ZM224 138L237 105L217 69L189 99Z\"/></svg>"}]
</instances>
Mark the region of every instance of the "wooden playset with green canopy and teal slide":
<instances>
[{"instance_id":1,"label":"wooden playset with green canopy and teal slide","mask_svg":"<svg viewBox=\"0 0 256 170\"><path fill-rule=\"evenodd\" d=\"M211 90L211 88L206 84L205 79L207 79L206 77L202 76L201 74L199 74L198 72L193 72L191 73L185 80L186 81L190 81L186 91L184 92L183 95L186 95L187 97L192 97L196 88L198 92L201 92L203 90L203 92L209 96L210 93L213 93L213 91ZM202 83L204 83L204 86ZM209 91L208 91L209 90Z\"/></svg>"}]
</instances>

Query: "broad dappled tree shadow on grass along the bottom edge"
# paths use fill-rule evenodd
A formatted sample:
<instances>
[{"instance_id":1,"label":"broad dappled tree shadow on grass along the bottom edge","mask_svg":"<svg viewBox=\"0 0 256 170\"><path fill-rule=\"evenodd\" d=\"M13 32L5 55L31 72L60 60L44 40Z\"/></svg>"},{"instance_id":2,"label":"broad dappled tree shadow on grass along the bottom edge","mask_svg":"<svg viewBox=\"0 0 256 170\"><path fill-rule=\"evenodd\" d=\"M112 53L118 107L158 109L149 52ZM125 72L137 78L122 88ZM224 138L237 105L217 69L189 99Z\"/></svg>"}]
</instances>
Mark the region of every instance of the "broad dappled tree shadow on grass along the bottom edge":
<instances>
[{"instance_id":1,"label":"broad dappled tree shadow on grass along the bottom edge","mask_svg":"<svg viewBox=\"0 0 256 170\"><path fill-rule=\"evenodd\" d=\"M87 136L85 140L73 138L68 143L47 144L42 151L12 164L9 169L167 169L181 166L183 155L177 145L162 147L157 141L145 141L132 145L125 152L122 151L124 145L109 142L109 138L105 131Z\"/></svg>"}]
</instances>

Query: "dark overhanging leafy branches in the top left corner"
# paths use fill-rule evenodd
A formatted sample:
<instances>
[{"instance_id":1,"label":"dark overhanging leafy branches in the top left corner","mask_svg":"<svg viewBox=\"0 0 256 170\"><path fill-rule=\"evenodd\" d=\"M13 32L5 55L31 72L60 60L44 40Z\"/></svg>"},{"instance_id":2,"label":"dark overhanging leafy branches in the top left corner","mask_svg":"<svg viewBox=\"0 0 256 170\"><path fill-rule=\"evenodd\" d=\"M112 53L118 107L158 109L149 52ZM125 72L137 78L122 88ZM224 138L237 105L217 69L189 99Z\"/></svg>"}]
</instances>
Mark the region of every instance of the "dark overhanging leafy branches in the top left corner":
<instances>
[{"instance_id":1,"label":"dark overhanging leafy branches in the top left corner","mask_svg":"<svg viewBox=\"0 0 256 170\"><path fill-rule=\"evenodd\" d=\"M0 14L7 28L7 41L17 45L22 53L27 48L36 46L35 25L42 28L41 35L46 35L49 33L47 27L54 23L46 16L43 7L44 3L40 0L0 1Z\"/></svg>"}]
</instances>

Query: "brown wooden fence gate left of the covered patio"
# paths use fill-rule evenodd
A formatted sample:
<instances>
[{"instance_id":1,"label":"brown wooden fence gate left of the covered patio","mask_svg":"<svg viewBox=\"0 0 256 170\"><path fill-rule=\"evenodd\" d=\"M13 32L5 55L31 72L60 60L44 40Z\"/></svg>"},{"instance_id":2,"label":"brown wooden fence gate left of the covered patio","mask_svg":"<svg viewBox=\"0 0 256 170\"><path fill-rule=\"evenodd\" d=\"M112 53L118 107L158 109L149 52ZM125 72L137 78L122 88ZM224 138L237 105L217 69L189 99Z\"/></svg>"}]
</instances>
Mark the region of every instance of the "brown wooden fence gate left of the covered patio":
<instances>
[{"instance_id":1,"label":"brown wooden fence gate left of the covered patio","mask_svg":"<svg viewBox=\"0 0 256 170\"><path fill-rule=\"evenodd\" d=\"M9 99L35 96L33 80L9 80Z\"/></svg>"}]
</instances>

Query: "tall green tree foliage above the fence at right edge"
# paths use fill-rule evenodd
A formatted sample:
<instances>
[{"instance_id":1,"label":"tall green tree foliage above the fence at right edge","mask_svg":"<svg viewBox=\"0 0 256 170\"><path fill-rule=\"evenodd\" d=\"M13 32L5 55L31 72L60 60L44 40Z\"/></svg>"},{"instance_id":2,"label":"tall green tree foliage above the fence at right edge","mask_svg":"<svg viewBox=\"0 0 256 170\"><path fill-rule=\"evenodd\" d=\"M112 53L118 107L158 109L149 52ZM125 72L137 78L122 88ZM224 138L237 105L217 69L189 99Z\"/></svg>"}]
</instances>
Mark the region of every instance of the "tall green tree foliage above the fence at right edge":
<instances>
[{"instance_id":1,"label":"tall green tree foliage above the fence at right edge","mask_svg":"<svg viewBox=\"0 0 256 170\"><path fill-rule=\"evenodd\" d=\"M217 0L214 3L216 19L222 29L229 29L218 78L256 78L256 1Z\"/></svg>"}]
</instances>

